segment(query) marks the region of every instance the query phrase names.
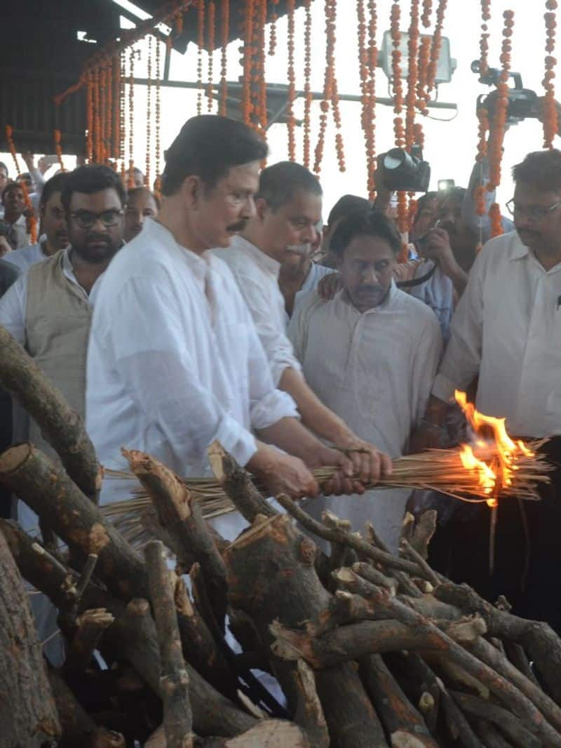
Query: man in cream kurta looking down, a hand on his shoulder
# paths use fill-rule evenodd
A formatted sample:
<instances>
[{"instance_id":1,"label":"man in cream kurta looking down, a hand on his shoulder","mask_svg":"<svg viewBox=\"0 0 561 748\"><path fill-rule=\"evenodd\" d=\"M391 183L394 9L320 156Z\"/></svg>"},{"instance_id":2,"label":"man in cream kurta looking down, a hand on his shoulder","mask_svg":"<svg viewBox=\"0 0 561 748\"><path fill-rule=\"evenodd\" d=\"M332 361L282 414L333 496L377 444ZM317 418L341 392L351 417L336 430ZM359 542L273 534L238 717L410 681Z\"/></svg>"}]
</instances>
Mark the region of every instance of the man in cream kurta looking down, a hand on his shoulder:
<instances>
[{"instance_id":1,"label":"man in cream kurta looking down, a hand on his shoulder","mask_svg":"<svg viewBox=\"0 0 561 748\"><path fill-rule=\"evenodd\" d=\"M428 307L396 288L393 270L401 239L377 211L343 218L331 239L342 288L331 301L310 293L289 325L295 355L313 392L359 437L392 457L408 449L411 430L426 408L441 334ZM356 530L373 521L381 539L397 548L411 491L368 491L314 499L307 511L331 509Z\"/></svg>"}]
</instances>

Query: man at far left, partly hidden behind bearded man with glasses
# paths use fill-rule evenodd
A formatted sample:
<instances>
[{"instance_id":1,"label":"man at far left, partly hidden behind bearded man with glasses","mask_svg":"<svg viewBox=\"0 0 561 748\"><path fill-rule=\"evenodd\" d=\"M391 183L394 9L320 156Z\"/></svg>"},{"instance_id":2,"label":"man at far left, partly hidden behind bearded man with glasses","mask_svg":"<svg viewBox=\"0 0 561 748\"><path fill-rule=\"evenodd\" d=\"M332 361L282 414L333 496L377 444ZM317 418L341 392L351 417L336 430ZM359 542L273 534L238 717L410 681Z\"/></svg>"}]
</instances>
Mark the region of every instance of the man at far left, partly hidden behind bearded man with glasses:
<instances>
[{"instance_id":1,"label":"man at far left, partly hidden behind bearded man with glasses","mask_svg":"<svg viewBox=\"0 0 561 748\"><path fill-rule=\"evenodd\" d=\"M52 257L68 244L67 217L61 203L61 194L68 174L55 174L45 183L39 203L41 231L43 236L37 244L16 249L4 258L8 263L25 271L31 265Z\"/></svg>"}]
</instances>

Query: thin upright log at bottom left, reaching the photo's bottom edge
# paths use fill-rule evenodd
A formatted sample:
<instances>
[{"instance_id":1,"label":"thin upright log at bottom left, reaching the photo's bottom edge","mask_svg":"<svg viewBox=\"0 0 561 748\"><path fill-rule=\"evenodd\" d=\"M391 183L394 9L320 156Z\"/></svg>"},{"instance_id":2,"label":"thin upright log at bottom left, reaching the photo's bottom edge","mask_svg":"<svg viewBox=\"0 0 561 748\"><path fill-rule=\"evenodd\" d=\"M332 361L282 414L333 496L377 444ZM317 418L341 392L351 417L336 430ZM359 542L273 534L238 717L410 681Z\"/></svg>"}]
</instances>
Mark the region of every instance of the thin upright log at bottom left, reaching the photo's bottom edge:
<instances>
[{"instance_id":1,"label":"thin upright log at bottom left, reaching the photo's bottom edge","mask_svg":"<svg viewBox=\"0 0 561 748\"><path fill-rule=\"evenodd\" d=\"M165 737L171 746L192 748L194 738L188 691L189 677L181 651L174 590L171 588L163 543L159 540L150 541L144 548L144 557L158 634Z\"/></svg>"}]
</instances>

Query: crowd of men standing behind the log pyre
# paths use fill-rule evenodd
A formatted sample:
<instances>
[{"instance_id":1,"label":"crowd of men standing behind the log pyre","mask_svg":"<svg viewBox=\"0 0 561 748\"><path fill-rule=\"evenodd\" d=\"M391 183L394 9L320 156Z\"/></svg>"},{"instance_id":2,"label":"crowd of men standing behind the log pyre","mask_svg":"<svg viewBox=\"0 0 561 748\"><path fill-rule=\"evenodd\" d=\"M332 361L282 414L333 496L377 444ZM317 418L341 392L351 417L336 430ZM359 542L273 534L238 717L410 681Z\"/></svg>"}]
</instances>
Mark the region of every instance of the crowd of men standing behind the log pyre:
<instances>
[{"instance_id":1,"label":"crowd of men standing behind the log pyre","mask_svg":"<svg viewBox=\"0 0 561 748\"><path fill-rule=\"evenodd\" d=\"M203 476L218 440L272 497L355 530L371 521L394 551L406 507L432 501L437 568L561 630L560 469L541 502L500 502L492 573L485 506L365 492L392 458L453 444L456 388L513 436L552 437L561 459L561 152L515 166L514 223L479 253L485 162L467 188L421 197L406 263L383 189L374 205L342 197L322 226L316 177L292 162L261 171L266 155L242 123L193 117L166 152L161 196L127 193L105 165L36 185L34 246L22 189L5 183L0 325L85 417L105 467L124 467L124 446ZM13 438L49 451L16 408ZM338 468L322 497L320 466ZM114 500L109 482L101 500ZM228 540L245 527L214 522Z\"/></svg>"}]
</instances>

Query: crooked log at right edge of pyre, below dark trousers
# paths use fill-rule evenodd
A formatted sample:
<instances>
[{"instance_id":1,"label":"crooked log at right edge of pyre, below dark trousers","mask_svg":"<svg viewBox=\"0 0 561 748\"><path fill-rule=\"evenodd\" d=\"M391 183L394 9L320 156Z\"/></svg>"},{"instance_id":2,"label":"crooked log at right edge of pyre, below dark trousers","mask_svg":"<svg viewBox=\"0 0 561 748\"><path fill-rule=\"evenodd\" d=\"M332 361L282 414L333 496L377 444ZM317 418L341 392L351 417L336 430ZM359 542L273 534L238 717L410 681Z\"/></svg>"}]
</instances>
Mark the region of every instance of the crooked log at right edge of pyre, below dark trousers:
<instances>
[{"instance_id":1,"label":"crooked log at right edge of pyre, below dark trousers","mask_svg":"<svg viewBox=\"0 0 561 748\"><path fill-rule=\"evenodd\" d=\"M521 644L538 667L547 690L561 705L561 640L547 623L527 621L499 610L467 584L443 582L435 589L435 597L465 612L477 613L491 636Z\"/></svg>"}]
</instances>

